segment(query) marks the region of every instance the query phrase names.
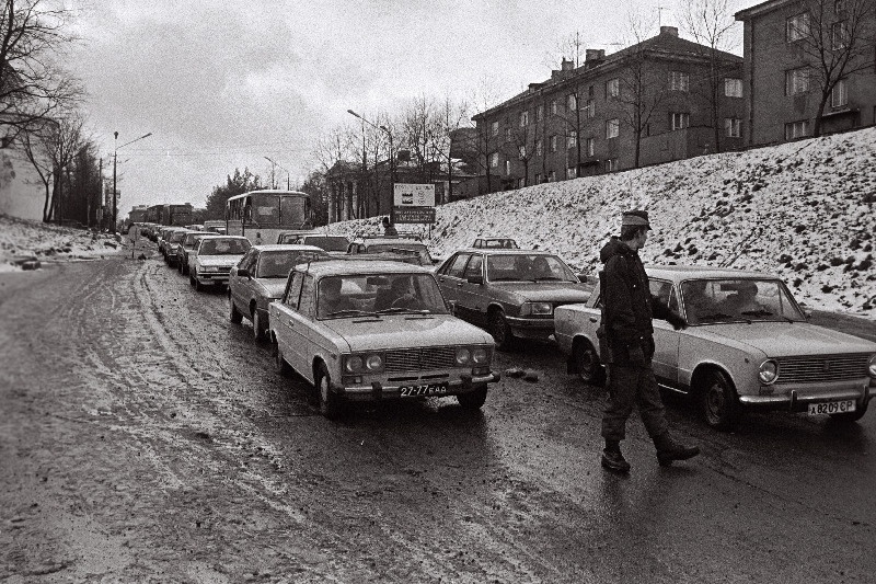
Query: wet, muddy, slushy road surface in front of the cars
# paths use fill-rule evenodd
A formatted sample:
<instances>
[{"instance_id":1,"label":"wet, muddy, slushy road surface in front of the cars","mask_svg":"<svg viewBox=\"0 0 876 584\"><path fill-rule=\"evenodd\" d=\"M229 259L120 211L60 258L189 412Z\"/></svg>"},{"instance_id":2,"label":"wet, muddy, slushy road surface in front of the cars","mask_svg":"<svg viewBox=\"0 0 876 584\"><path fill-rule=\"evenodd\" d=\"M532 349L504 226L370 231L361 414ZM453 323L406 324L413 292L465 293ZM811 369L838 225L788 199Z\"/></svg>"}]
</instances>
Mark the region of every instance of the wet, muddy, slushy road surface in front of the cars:
<instances>
[{"instance_id":1,"label":"wet, muddy, slushy road surface in front of the cars","mask_svg":"<svg viewBox=\"0 0 876 584\"><path fill-rule=\"evenodd\" d=\"M267 344L154 256L0 278L0 582L873 582L876 413L671 400L702 456L599 467L604 391L551 345L452 398L330 422Z\"/></svg>"}]
</instances>

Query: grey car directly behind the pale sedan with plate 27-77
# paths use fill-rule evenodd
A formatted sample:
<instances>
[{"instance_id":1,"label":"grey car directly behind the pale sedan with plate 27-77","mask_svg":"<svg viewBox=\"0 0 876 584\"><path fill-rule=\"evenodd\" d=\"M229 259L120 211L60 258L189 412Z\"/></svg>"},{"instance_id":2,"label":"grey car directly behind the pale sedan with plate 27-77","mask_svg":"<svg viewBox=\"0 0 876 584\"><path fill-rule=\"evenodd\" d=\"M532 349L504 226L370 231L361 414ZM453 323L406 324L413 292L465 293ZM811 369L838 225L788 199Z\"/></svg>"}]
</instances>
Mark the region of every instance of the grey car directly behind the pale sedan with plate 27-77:
<instances>
[{"instance_id":1,"label":"grey car directly behind the pale sedan with plate 27-77","mask_svg":"<svg viewBox=\"0 0 876 584\"><path fill-rule=\"evenodd\" d=\"M296 264L328 257L315 245L253 245L231 268L228 279L229 319L240 324L243 318L253 323L256 341L265 337L269 325L267 307L283 296L289 272Z\"/></svg>"}]
</instances>

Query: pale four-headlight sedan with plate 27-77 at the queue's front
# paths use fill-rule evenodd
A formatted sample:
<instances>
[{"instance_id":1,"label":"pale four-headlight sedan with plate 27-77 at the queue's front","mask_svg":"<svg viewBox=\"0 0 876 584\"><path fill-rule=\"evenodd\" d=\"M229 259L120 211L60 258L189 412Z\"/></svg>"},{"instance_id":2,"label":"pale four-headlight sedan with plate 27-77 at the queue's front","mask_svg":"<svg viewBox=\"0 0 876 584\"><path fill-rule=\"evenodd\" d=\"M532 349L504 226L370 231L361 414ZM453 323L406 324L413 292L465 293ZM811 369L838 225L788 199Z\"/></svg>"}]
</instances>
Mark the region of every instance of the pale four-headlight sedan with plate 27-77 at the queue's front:
<instances>
[{"instance_id":1,"label":"pale four-headlight sedan with plate 27-77 at the queue's front","mask_svg":"<svg viewBox=\"0 0 876 584\"><path fill-rule=\"evenodd\" d=\"M480 409L493 339L456 318L429 270L387 261L299 264L270 302L270 339L283 373L314 385L326 417L348 404L456 396Z\"/></svg>"}]
</instances>

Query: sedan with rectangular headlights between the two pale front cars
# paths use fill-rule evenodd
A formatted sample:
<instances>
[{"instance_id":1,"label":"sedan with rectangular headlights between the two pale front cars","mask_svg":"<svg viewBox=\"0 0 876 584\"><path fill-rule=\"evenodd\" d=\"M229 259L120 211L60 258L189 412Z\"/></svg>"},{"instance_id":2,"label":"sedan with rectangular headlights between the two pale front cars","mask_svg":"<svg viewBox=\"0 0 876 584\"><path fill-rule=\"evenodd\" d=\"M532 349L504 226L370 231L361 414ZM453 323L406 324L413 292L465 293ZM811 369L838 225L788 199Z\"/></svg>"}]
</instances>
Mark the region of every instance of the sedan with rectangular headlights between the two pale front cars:
<instances>
[{"instance_id":1,"label":"sedan with rectangular headlights between the two pale front cars","mask_svg":"<svg viewBox=\"0 0 876 584\"><path fill-rule=\"evenodd\" d=\"M518 339L549 340L554 310L590 298L581 277L546 251L463 249L441 264L437 276L457 316L488 330L499 350L514 347Z\"/></svg>"}]
</instances>

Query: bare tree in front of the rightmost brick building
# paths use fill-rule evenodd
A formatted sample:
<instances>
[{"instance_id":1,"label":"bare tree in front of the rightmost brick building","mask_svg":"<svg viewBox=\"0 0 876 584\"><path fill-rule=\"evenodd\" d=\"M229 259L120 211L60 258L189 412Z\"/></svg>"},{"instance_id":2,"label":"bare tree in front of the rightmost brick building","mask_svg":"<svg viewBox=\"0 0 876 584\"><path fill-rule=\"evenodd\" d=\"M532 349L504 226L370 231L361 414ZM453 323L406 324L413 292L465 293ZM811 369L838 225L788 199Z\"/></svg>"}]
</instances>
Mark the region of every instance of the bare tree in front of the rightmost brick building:
<instances>
[{"instance_id":1,"label":"bare tree in front of the rightmost brick building","mask_svg":"<svg viewBox=\"0 0 876 584\"><path fill-rule=\"evenodd\" d=\"M812 126L812 136L820 136L833 91L849 77L873 68L876 1L799 0L798 4L804 16L788 25L787 34L797 37L793 47L809 66L809 81L820 90Z\"/></svg>"}]
</instances>

